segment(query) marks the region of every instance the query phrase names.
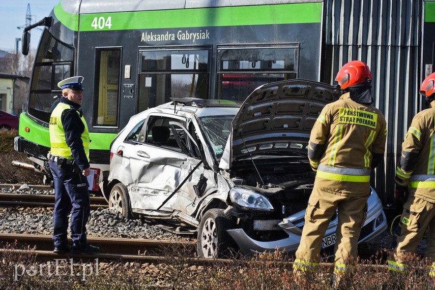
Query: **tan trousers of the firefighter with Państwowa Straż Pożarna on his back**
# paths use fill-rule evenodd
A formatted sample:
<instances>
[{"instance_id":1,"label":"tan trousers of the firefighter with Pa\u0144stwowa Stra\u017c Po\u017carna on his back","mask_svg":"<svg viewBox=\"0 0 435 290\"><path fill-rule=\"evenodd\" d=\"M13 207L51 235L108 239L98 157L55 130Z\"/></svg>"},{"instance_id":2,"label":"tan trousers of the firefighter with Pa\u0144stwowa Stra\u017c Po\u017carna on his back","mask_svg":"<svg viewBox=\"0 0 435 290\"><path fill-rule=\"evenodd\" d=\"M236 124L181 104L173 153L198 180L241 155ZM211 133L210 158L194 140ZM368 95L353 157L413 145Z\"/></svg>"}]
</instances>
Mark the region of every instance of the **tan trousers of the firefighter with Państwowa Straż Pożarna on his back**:
<instances>
[{"instance_id":1,"label":"tan trousers of the firefighter with Pa\u0144stwowa Stra\u017c Po\u017carna on his back","mask_svg":"<svg viewBox=\"0 0 435 290\"><path fill-rule=\"evenodd\" d=\"M331 194L315 186L305 212L301 243L296 251L297 261L303 263L320 261L322 239L337 209L335 265L344 265L349 256L356 257L358 238L367 214L368 196L369 193L361 197Z\"/></svg>"}]
</instances>

